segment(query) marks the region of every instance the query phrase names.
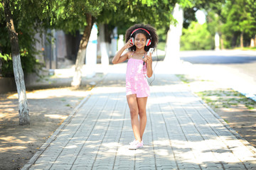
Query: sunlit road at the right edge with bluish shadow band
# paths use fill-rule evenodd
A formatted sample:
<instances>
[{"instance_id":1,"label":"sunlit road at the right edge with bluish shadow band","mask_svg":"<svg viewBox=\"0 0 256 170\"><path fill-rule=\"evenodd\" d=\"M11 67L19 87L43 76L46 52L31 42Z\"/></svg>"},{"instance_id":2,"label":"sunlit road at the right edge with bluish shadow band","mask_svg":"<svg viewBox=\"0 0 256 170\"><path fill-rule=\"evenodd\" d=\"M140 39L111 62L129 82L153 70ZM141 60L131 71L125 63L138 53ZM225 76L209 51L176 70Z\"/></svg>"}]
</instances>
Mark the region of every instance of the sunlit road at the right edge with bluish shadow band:
<instances>
[{"instance_id":1,"label":"sunlit road at the right edge with bluish shadow band","mask_svg":"<svg viewBox=\"0 0 256 170\"><path fill-rule=\"evenodd\" d=\"M210 79L256 99L256 51L185 51L180 52L180 57Z\"/></svg>"}]
</instances>

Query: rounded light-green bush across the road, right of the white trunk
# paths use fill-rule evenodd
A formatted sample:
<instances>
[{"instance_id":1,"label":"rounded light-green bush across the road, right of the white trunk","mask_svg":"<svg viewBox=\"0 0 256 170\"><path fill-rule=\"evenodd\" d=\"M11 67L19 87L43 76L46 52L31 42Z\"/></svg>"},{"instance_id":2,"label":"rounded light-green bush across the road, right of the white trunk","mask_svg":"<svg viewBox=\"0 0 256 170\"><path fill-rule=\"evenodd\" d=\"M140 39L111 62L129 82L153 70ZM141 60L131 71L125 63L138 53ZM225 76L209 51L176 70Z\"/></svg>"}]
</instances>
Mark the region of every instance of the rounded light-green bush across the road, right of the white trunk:
<instances>
[{"instance_id":1,"label":"rounded light-green bush across the road, right of the white trunk","mask_svg":"<svg viewBox=\"0 0 256 170\"><path fill-rule=\"evenodd\" d=\"M207 30L207 25L193 21L188 29L183 28L181 36L181 50L210 50L213 38Z\"/></svg>"}]
</instances>

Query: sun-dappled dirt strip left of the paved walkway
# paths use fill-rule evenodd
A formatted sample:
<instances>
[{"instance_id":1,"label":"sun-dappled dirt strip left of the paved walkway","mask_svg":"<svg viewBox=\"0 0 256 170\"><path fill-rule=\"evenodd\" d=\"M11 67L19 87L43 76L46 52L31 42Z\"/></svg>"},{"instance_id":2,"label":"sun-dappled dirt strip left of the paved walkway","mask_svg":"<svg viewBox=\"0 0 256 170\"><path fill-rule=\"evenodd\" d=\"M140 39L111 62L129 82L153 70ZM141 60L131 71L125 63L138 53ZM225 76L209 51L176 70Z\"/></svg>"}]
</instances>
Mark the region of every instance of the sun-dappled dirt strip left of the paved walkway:
<instances>
[{"instance_id":1,"label":"sun-dappled dirt strip left of the paved walkway","mask_svg":"<svg viewBox=\"0 0 256 170\"><path fill-rule=\"evenodd\" d=\"M72 88L26 91L31 124L23 126L18 125L18 94L1 94L0 152L4 159L0 164L20 166L25 158L27 162L89 92ZM70 135L64 137L68 140Z\"/></svg>"}]
</instances>

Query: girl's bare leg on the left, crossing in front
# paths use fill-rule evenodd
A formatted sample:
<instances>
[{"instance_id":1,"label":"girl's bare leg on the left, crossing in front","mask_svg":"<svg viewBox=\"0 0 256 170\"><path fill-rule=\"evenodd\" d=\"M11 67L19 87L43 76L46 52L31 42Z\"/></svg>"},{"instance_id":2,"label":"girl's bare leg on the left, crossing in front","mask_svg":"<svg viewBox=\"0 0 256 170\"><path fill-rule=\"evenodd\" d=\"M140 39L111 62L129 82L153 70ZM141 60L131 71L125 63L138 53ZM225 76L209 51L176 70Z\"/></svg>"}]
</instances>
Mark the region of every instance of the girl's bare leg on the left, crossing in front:
<instances>
[{"instance_id":1,"label":"girl's bare leg on the left, crossing in front","mask_svg":"<svg viewBox=\"0 0 256 170\"><path fill-rule=\"evenodd\" d=\"M140 135L140 128L139 128L139 107L137 103L137 96L136 94L131 94L127 96L127 102L129 105L130 115L131 115L131 123L132 123L132 130L134 132L135 140L142 142L141 135Z\"/></svg>"}]
</instances>

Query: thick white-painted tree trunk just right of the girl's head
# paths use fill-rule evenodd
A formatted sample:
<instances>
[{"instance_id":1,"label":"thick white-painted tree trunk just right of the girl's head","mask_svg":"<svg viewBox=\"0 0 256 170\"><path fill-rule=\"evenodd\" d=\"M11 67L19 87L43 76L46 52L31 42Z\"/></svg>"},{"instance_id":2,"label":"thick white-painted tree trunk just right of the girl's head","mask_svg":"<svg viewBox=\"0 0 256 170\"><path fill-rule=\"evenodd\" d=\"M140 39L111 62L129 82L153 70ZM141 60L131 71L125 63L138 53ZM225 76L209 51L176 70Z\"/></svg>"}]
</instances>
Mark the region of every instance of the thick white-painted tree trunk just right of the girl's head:
<instances>
[{"instance_id":1,"label":"thick white-painted tree trunk just right of the girl's head","mask_svg":"<svg viewBox=\"0 0 256 170\"><path fill-rule=\"evenodd\" d=\"M176 4L173 11L173 16L178 21L176 26L170 24L166 40L166 56L164 62L176 64L179 62L180 40L183 28L183 10Z\"/></svg>"}]
</instances>

